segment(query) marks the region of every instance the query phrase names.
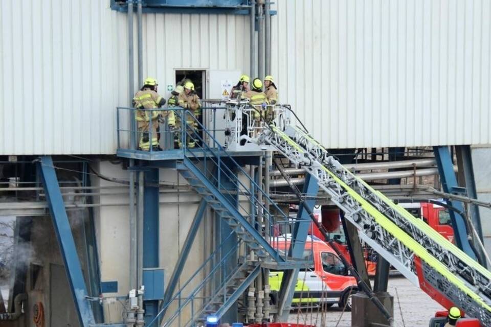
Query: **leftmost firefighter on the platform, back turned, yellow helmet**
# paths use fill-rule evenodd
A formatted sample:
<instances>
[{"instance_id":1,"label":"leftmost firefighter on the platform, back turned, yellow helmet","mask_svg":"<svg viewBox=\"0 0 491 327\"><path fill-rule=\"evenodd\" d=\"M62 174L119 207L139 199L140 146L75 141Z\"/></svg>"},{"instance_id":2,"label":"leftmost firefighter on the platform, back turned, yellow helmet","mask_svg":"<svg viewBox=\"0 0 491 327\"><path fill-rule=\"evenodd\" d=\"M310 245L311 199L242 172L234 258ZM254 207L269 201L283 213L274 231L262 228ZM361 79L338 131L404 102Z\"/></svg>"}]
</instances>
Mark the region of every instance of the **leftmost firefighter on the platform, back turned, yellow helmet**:
<instances>
[{"instance_id":1,"label":"leftmost firefighter on the platform, back turned, yellow helmet","mask_svg":"<svg viewBox=\"0 0 491 327\"><path fill-rule=\"evenodd\" d=\"M147 77L143 82L143 87L133 98L133 107L137 110L135 119L139 131L139 149L149 151L161 151L159 146L159 123L167 116L167 123L170 129L175 127L174 113L172 111L151 110L161 108L165 104L165 99L157 93L157 80ZM151 138L151 139L150 139Z\"/></svg>"}]
</instances>

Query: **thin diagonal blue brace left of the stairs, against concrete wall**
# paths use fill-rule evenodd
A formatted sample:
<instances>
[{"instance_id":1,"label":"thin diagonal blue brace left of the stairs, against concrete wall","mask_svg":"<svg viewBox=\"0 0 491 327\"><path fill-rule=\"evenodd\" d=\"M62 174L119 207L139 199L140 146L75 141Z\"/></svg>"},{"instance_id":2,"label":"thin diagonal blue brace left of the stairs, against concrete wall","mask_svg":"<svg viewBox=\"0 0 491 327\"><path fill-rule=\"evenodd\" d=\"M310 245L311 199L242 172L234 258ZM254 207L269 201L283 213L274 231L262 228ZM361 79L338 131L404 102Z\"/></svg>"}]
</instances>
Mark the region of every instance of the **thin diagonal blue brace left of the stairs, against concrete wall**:
<instances>
[{"instance_id":1,"label":"thin diagonal blue brace left of the stairs, against concrete wall","mask_svg":"<svg viewBox=\"0 0 491 327\"><path fill-rule=\"evenodd\" d=\"M183 249L181 250L181 254L177 259L177 263L175 264L174 271L172 272L172 276L169 279L169 284L167 289L165 290L164 301L162 302L165 307L167 303L172 298L174 290L177 286L179 278L181 277L181 273L184 269L184 264L188 259L189 251L191 250L191 246L193 245L194 238L199 229L199 225L201 224L203 217L205 217L207 202L202 199L199 203L199 206L196 210L196 214L194 215L193 222L191 223L191 227L189 227L188 235L186 236L186 241L184 241ZM162 316L165 315L165 311L162 313Z\"/></svg>"}]
</instances>

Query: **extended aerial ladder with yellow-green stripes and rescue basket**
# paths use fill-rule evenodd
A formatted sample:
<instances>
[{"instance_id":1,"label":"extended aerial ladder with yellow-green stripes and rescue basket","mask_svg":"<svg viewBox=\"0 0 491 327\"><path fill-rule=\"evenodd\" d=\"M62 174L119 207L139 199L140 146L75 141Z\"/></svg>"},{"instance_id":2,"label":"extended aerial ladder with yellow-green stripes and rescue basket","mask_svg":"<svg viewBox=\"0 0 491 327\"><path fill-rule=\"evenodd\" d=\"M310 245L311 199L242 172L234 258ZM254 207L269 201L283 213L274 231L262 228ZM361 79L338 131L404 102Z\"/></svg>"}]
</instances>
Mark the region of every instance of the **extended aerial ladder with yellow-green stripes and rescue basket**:
<instances>
[{"instance_id":1,"label":"extended aerial ladder with yellow-green stripes and rescue basket","mask_svg":"<svg viewBox=\"0 0 491 327\"><path fill-rule=\"evenodd\" d=\"M255 144L280 152L297 168L314 177L320 188L359 230L360 238L415 286L443 307L457 306L467 316L491 326L491 272L470 258L425 222L344 168L305 129L289 123L284 109L275 107L275 121L252 122L247 103L234 103L235 116L247 119L247 132L232 129L234 151ZM264 108L262 108L264 109ZM241 114L244 113L244 114ZM279 119L278 119L279 118ZM232 124L231 121L229 123ZM232 124L233 125L233 124ZM235 132L235 135L234 135ZM240 143L246 140L246 144Z\"/></svg>"}]
</instances>

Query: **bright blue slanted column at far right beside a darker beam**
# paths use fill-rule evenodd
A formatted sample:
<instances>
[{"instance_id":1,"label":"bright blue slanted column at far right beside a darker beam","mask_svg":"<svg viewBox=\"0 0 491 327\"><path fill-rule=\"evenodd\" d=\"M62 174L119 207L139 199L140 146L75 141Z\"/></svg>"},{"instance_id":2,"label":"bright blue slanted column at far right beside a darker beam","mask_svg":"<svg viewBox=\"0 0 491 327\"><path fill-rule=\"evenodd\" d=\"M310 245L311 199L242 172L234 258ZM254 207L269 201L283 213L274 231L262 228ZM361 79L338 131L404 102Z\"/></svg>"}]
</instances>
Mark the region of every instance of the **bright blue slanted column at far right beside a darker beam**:
<instances>
[{"instance_id":1,"label":"bright blue slanted column at far right beside a darker beam","mask_svg":"<svg viewBox=\"0 0 491 327\"><path fill-rule=\"evenodd\" d=\"M433 147L433 152L435 153L436 164L438 166L438 172L440 173L443 192L454 193L455 188L458 188L458 184L449 147ZM452 201L450 199L447 199L447 201L451 206L457 208L461 212L464 212L464 206L462 202L455 200ZM454 227L456 245L467 255L476 260L476 254L474 253L469 241L467 240L467 228L464 221L465 218L461 217L453 210L450 210L449 213L450 219L452 220L452 226Z\"/></svg>"}]
</instances>

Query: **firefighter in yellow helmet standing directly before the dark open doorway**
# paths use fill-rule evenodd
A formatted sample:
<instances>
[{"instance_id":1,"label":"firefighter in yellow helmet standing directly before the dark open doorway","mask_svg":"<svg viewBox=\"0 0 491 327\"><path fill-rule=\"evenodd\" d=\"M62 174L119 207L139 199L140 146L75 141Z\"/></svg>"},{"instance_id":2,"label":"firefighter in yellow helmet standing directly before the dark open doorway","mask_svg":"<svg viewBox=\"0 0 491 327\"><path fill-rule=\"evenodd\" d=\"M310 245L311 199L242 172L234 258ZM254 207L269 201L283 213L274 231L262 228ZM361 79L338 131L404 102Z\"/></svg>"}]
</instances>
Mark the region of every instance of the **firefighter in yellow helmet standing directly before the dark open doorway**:
<instances>
[{"instance_id":1,"label":"firefighter in yellow helmet standing directly before the dark open doorway","mask_svg":"<svg viewBox=\"0 0 491 327\"><path fill-rule=\"evenodd\" d=\"M184 84L184 91L179 95L179 106L183 107L184 109L190 109L196 117L196 120L201 123L201 103L199 102L198 95L194 91L194 84L192 82L186 82L186 84ZM194 148L196 145L196 139L198 138L196 135L196 129L198 129L199 125L189 114L185 114L185 116L187 125L186 143L188 148Z\"/></svg>"}]
</instances>

